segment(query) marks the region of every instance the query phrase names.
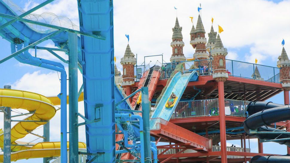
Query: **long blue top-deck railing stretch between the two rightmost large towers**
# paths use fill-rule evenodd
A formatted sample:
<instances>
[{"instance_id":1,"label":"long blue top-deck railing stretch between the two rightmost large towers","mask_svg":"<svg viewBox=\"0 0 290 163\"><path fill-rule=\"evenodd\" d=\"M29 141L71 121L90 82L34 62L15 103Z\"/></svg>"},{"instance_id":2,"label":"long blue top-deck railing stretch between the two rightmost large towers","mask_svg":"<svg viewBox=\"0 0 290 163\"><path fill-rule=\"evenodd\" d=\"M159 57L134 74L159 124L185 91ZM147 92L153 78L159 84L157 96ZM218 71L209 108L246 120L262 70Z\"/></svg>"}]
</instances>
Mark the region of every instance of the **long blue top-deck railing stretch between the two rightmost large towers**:
<instances>
[{"instance_id":1,"label":"long blue top-deck railing stretch between the two rightmost large towers","mask_svg":"<svg viewBox=\"0 0 290 163\"><path fill-rule=\"evenodd\" d=\"M226 69L230 76L280 83L278 67L226 59Z\"/></svg>"}]
</instances>

